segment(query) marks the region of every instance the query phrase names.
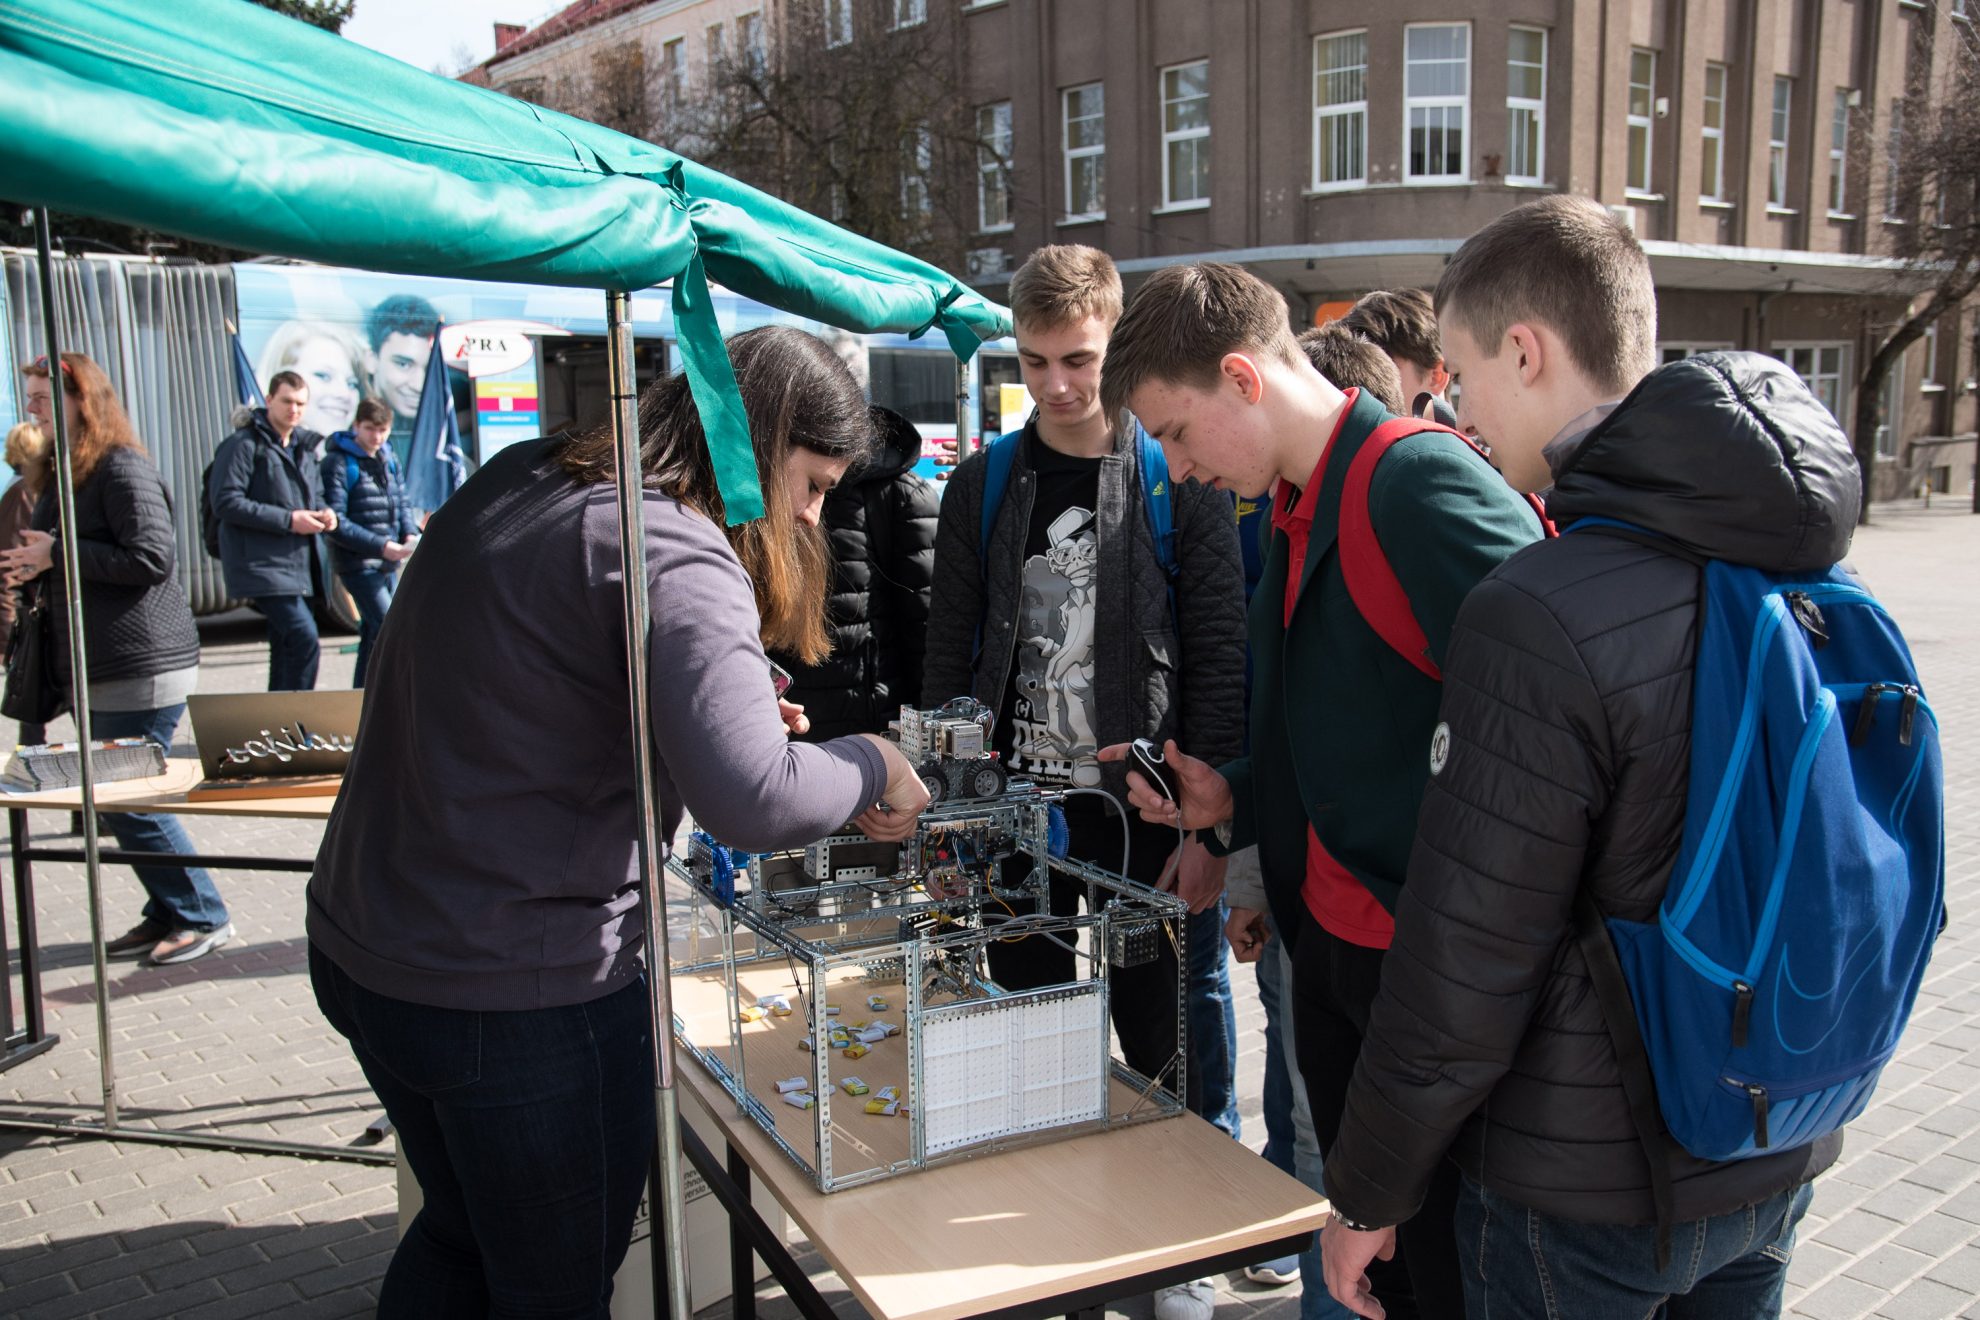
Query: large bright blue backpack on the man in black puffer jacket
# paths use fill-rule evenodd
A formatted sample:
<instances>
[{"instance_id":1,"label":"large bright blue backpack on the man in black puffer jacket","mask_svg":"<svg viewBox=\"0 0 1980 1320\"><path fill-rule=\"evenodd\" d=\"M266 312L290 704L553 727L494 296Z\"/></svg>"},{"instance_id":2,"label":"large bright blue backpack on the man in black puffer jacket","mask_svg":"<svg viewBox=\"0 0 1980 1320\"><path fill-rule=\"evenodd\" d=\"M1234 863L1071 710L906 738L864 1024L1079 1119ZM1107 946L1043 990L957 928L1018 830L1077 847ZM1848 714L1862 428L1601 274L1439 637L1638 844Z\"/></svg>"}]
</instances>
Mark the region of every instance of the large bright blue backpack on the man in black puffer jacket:
<instances>
[{"instance_id":1,"label":"large bright blue backpack on the man in black puffer jacket","mask_svg":"<svg viewBox=\"0 0 1980 1320\"><path fill-rule=\"evenodd\" d=\"M1847 570L1703 560L1606 519L1570 530L1588 526L1699 562L1705 586L1685 833L1657 920L1576 902L1667 1239L1659 1116L1693 1156L1746 1160L1869 1104L1944 924L1938 720Z\"/></svg>"}]
</instances>

